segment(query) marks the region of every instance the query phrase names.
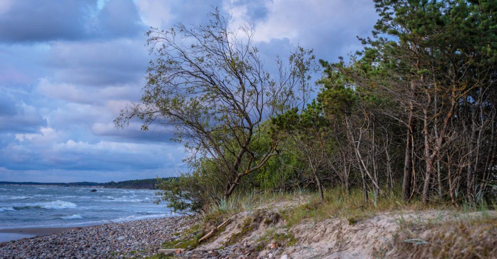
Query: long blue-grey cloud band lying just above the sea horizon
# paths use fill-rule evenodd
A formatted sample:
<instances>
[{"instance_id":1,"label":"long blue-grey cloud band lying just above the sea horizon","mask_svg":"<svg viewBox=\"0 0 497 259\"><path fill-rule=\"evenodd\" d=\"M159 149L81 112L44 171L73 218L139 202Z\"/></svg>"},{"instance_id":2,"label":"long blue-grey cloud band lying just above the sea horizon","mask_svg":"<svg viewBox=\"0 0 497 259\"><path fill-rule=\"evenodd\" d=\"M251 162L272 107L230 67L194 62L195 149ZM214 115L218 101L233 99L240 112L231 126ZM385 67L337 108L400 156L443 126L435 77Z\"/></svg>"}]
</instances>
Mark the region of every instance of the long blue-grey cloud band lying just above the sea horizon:
<instances>
[{"instance_id":1,"label":"long blue-grey cloud band lying just above the sea horizon","mask_svg":"<svg viewBox=\"0 0 497 259\"><path fill-rule=\"evenodd\" d=\"M54 137L57 139L58 132L46 131L17 135L15 142L0 150L2 167L8 170L150 170L175 167L183 155L177 144L92 143L72 139L47 143Z\"/></svg>"}]
</instances>

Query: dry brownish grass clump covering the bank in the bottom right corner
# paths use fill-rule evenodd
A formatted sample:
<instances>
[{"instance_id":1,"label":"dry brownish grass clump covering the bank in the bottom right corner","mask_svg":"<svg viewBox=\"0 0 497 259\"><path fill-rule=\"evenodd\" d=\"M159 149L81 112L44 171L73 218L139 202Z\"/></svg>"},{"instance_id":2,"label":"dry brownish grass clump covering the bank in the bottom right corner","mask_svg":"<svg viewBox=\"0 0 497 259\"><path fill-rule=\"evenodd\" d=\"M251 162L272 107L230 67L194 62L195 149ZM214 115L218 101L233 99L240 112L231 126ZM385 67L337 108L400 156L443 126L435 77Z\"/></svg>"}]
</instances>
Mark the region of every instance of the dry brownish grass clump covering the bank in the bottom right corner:
<instances>
[{"instance_id":1,"label":"dry brownish grass clump covering the bank in the bottom right corner","mask_svg":"<svg viewBox=\"0 0 497 259\"><path fill-rule=\"evenodd\" d=\"M488 212L488 211L487 211ZM399 222L389 246L377 258L493 258L497 255L497 217L489 213L459 214L449 220Z\"/></svg>"}]
</instances>

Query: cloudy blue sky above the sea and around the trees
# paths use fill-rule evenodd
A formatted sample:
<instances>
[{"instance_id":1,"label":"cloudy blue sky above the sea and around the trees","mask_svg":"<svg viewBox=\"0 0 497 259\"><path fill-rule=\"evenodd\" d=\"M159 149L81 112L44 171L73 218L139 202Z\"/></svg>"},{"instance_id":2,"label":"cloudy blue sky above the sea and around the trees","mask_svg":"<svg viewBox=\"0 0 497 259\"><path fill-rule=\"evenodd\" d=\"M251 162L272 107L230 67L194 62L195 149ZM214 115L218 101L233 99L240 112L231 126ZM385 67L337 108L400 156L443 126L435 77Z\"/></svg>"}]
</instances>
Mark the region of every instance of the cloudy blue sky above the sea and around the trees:
<instances>
[{"instance_id":1,"label":"cloudy blue sky above the sea and around the trees","mask_svg":"<svg viewBox=\"0 0 497 259\"><path fill-rule=\"evenodd\" d=\"M187 170L171 132L119 130L139 102L145 32L205 23L255 26L266 64L296 46L337 61L361 49L377 19L371 0L0 0L0 181L107 182ZM317 75L319 77L319 75Z\"/></svg>"}]
</instances>

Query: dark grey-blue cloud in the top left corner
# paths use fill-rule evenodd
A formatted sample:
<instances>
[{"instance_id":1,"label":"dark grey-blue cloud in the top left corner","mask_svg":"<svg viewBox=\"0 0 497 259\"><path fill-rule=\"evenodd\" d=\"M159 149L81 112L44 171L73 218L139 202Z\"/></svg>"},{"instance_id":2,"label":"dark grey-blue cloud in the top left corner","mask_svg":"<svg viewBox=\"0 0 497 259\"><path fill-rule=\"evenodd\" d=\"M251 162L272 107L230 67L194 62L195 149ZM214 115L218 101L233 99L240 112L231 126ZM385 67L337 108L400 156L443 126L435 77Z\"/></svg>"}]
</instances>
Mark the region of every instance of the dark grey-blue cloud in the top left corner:
<instances>
[{"instance_id":1,"label":"dark grey-blue cloud in the top left corner","mask_svg":"<svg viewBox=\"0 0 497 259\"><path fill-rule=\"evenodd\" d=\"M143 34L132 0L5 0L0 9L0 42L109 39Z\"/></svg>"}]
</instances>

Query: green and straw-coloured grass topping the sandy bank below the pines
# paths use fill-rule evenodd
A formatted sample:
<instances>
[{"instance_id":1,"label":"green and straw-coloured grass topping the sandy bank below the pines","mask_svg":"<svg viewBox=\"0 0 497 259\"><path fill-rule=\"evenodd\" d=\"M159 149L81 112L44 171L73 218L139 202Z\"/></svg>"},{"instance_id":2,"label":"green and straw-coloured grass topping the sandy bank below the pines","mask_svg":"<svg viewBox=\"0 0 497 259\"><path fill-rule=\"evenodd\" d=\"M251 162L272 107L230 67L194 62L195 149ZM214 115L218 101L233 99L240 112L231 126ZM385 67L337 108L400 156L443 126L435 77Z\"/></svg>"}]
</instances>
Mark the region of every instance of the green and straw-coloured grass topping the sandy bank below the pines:
<instances>
[{"instance_id":1,"label":"green and straw-coloured grass topping the sandy bank below the pines","mask_svg":"<svg viewBox=\"0 0 497 259\"><path fill-rule=\"evenodd\" d=\"M369 201L366 202L364 199L364 194L360 189L351 190L350 194L346 192L344 188L333 188L325 191L325 198L322 201L317 193L310 192L262 192L262 193L238 193L232 195L230 198L221 199L219 202L211 206L211 208L202 215L201 223L195 225L192 229L182 232L175 233L180 235L181 237L178 240L165 242L163 244L164 248L184 248L190 249L198 245L198 240L203 234L203 229L206 228L207 225L217 226L228 217L240 213L243 211L247 211L247 218L241 224L240 231L238 233L233 234L230 239L226 242L225 245L232 245L236 242L239 242L244 237L248 236L251 232L253 232L258 224L264 223L269 225L271 222L266 222L269 218L266 218L264 213L267 213L268 210L258 210L258 207L268 205L274 202L287 201L296 198L304 197L306 202L302 205L298 205L295 207L283 207L279 208L279 215L285 221L284 228L286 231L277 231L274 227L268 229L266 233L257 240L257 249L263 250L265 245L268 242L274 241L282 246L293 246L298 240L289 232L288 230L303 221L314 221L318 222L324 219L330 218L339 218L343 219L348 224L354 225L357 222L360 222L363 219L373 217L380 213L384 212L401 212L406 210L413 211L422 211L428 209L436 209L436 210L449 210L453 213L454 218L460 220L461 222L469 222L463 223L462 225L467 225L470 227L471 224L479 224L482 221L474 221L464 220L467 212L480 211L481 214L485 214L490 207L497 207L496 204L492 204L488 206L487 204L481 203L480 206L470 206L467 203L461 203L458 207L454 206L447 200L443 200L442 198L438 198L437 200L431 201L428 205L423 205L420 200L413 199L409 202L405 202L401 198L400 189L386 192L384 191L383 195L377 195L375 193L369 193ZM265 211L265 212L264 212ZM402 214L402 213L401 213ZM279 219L279 218L278 218ZM473 220L473 221L472 221ZM495 220L495 219L494 219ZM471 223L474 222L474 223ZM417 235L416 230L422 229L422 227L415 225L408 225L407 223L403 223L402 220L399 224L402 225L404 230L412 229L408 234L397 234L399 239L395 246L399 246L401 248L412 249L411 246L422 246L425 243L429 243L428 241L422 239ZM439 224L439 225L437 225ZM440 225L441 224L441 225ZM435 228L441 226L450 227L450 224L443 225L444 223L437 222L437 219L424 224L424 228ZM495 226L492 225L492 221L484 222L487 226ZM461 225L461 226L462 226ZM476 225L473 225L476 226ZM464 231L465 228L452 229L454 233L459 233L458 231ZM219 235L223 232L224 229L218 231L215 236ZM402 235L401 235L402 234ZM462 233L464 234L464 233ZM461 235L462 235L461 234ZM438 235L438 234L437 234ZM457 235L456 235L457 236ZM454 237L456 237L454 236ZM399 241L400 240L400 241ZM404 242L406 241L407 242ZM455 241L447 241L448 243L440 243L438 245L434 245L432 249L432 254L442 255L442 258L451 257L455 254L453 252L447 252L443 249L436 250L436 247L441 248L443 246L448 246ZM470 239L468 239L470 240ZM452 243L451 243L452 242ZM468 241L469 242L469 241ZM487 242L489 243L489 242ZM491 243L491 242L490 242ZM432 243L429 243L432 244ZM483 253L484 255L488 255L488 249L480 251L478 247L473 247L471 244L468 245L476 251L475 253ZM497 247L497 244L496 246ZM385 250L388 251L388 250ZM383 252L385 252L383 251ZM413 250L415 251L415 250ZM492 251L491 251L492 252ZM452 253L452 254L451 254ZM378 253L378 255L382 255L382 253ZM384 254L383 254L384 255ZM419 254L415 254L419 255ZM423 254L424 255L424 254ZM474 256L477 254L466 254L469 256ZM157 257L157 259L162 259L167 257ZM414 258L414 257L413 257ZM154 258L156 259L156 258Z\"/></svg>"}]
</instances>

